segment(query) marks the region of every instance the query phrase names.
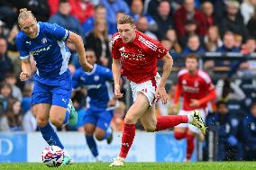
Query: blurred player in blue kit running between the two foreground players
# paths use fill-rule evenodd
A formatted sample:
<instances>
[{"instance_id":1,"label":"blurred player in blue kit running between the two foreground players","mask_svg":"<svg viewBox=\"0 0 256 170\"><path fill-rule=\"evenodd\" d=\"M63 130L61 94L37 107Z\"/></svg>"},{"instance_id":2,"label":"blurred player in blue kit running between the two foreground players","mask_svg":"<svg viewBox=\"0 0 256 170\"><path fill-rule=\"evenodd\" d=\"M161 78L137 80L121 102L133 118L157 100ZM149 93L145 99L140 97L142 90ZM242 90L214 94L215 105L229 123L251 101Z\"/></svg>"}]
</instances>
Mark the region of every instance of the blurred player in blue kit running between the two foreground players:
<instances>
[{"instance_id":1,"label":"blurred player in blue kit running between the two foreground players","mask_svg":"<svg viewBox=\"0 0 256 170\"><path fill-rule=\"evenodd\" d=\"M79 68L73 76L73 88L87 89L87 110L80 126L84 126L87 146L90 148L96 161L99 161L96 140L106 139L111 143L112 128L110 122L117 105L114 99L112 71L107 67L96 64L96 54L93 49L86 49L87 62L94 66L92 72L87 73Z\"/></svg>"}]
</instances>

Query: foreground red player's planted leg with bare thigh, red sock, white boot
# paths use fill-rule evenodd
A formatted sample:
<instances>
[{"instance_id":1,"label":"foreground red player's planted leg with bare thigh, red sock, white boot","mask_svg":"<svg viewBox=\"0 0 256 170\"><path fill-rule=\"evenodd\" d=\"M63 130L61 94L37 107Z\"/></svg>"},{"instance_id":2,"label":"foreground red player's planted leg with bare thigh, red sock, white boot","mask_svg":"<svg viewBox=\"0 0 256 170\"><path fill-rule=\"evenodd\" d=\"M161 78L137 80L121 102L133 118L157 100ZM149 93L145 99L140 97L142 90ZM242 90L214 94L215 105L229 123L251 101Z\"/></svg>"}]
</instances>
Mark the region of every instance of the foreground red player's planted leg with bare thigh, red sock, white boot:
<instances>
[{"instance_id":1,"label":"foreground red player's planted leg with bare thigh, red sock, white boot","mask_svg":"<svg viewBox=\"0 0 256 170\"><path fill-rule=\"evenodd\" d=\"M122 145L119 157L114 158L110 166L123 166L124 158L127 156L129 149L133 145L135 137L135 123L147 111L150 103L142 92L138 92L133 105L130 107L124 118Z\"/></svg>"}]
</instances>

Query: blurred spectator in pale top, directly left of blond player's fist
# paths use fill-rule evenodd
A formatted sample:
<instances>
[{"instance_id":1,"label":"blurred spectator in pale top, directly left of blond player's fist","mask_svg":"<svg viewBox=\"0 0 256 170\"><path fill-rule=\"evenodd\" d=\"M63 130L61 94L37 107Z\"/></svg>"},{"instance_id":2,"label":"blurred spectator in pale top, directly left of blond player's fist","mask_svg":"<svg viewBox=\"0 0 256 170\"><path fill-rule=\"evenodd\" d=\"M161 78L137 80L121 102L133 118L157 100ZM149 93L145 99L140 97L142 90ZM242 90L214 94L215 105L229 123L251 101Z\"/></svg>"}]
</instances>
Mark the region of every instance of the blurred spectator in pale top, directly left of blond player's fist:
<instances>
[{"instance_id":1,"label":"blurred spectator in pale top, directly left of blond player's fist","mask_svg":"<svg viewBox=\"0 0 256 170\"><path fill-rule=\"evenodd\" d=\"M6 84L11 85L12 86L12 96L16 99L18 99L20 102L23 101L23 94L22 91L19 87L17 87L16 85L16 77L14 76L14 74L7 74L5 76L5 81Z\"/></svg>"}]
</instances>

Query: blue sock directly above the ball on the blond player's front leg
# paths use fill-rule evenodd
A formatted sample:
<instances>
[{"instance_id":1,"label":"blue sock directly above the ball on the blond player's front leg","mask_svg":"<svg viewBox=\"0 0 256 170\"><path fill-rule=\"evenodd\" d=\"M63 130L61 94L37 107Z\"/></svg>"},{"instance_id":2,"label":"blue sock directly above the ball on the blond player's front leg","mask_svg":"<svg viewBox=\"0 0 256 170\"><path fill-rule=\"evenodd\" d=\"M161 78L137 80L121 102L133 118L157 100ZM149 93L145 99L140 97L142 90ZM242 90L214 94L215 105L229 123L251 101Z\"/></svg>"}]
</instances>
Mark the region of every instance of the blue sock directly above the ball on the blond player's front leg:
<instances>
[{"instance_id":1,"label":"blue sock directly above the ball on the blond player's front leg","mask_svg":"<svg viewBox=\"0 0 256 170\"><path fill-rule=\"evenodd\" d=\"M48 122L45 127L39 128L39 130L41 131L42 138L45 139L49 145L55 145L62 149L64 148L59 140L57 133L50 126L50 122Z\"/></svg>"}]
</instances>

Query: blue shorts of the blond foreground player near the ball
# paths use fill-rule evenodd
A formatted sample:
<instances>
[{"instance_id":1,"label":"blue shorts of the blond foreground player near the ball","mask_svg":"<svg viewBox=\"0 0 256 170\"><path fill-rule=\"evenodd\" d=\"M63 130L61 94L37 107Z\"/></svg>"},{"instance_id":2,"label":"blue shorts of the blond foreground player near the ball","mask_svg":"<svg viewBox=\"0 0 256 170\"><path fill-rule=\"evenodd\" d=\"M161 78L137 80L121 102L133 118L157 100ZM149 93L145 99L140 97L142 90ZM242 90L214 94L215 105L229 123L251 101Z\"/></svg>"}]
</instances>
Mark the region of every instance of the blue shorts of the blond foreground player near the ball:
<instances>
[{"instance_id":1,"label":"blue shorts of the blond foreground player near the ball","mask_svg":"<svg viewBox=\"0 0 256 170\"><path fill-rule=\"evenodd\" d=\"M52 82L48 79L35 78L32 90L32 105L49 103L67 108L72 93L72 77L56 78Z\"/></svg>"}]
</instances>

